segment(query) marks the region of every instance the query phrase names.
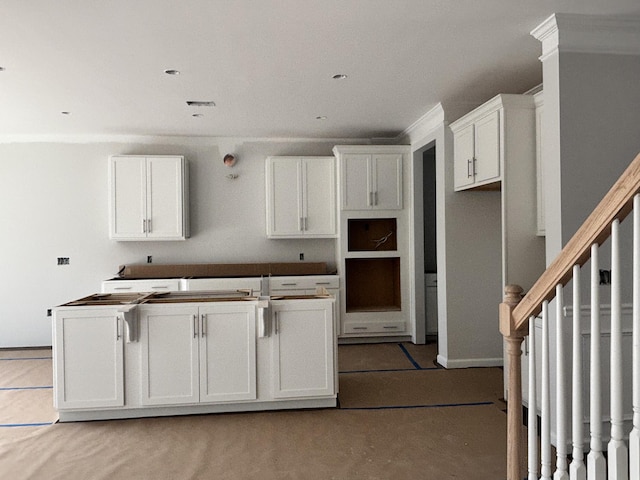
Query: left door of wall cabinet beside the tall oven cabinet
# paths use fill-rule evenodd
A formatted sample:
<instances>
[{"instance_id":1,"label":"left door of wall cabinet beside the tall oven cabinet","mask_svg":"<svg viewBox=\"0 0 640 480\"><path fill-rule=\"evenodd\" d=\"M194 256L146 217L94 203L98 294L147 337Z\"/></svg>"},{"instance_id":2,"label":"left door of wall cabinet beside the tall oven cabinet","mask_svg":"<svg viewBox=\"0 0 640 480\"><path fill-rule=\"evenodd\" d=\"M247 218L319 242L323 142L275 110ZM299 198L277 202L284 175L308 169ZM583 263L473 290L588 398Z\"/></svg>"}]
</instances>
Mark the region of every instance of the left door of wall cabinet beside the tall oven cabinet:
<instances>
[{"instance_id":1,"label":"left door of wall cabinet beside the tall oven cabinet","mask_svg":"<svg viewBox=\"0 0 640 480\"><path fill-rule=\"evenodd\" d=\"M302 235L301 172L299 158L267 159L267 236Z\"/></svg>"}]
</instances>

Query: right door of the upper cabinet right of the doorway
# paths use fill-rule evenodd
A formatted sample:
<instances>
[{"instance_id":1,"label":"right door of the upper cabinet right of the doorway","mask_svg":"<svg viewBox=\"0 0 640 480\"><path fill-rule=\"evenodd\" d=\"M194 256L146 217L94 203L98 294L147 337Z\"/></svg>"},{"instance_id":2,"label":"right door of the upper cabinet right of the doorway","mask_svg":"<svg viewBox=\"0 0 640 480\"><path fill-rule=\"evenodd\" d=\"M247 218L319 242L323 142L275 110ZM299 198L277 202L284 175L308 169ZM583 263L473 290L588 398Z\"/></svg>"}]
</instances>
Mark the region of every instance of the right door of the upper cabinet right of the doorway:
<instances>
[{"instance_id":1,"label":"right door of the upper cabinet right of the doorway","mask_svg":"<svg viewBox=\"0 0 640 480\"><path fill-rule=\"evenodd\" d=\"M500 112L492 112L475 123L475 182L500 179Z\"/></svg>"}]
</instances>

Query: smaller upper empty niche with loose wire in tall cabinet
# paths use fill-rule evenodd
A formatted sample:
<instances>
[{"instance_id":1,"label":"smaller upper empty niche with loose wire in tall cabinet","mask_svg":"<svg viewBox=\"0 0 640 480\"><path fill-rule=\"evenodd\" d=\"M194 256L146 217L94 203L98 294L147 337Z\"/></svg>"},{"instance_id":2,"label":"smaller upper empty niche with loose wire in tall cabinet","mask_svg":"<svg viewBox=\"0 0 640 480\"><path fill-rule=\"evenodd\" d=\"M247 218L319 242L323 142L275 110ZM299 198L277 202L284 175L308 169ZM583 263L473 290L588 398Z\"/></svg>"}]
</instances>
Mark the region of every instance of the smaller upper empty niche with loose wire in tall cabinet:
<instances>
[{"instance_id":1,"label":"smaller upper empty niche with loose wire in tall cabinet","mask_svg":"<svg viewBox=\"0 0 640 480\"><path fill-rule=\"evenodd\" d=\"M396 219L350 218L347 248L350 252L397 250Z\"/></svg>"}]
</instances>

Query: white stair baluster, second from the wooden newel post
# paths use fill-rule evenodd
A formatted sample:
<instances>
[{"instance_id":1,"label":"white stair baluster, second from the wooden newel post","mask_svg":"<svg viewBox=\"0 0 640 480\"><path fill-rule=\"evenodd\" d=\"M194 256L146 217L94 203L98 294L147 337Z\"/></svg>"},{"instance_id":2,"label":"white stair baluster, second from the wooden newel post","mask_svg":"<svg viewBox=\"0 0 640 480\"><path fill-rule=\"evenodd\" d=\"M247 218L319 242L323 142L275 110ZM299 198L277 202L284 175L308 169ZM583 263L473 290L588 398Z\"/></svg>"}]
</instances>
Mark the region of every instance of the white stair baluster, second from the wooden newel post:
<instances>
[{"instance_id":1,"label":"white stair baluster, second from the wooden newel post","mask_svg":"<svg viewBox=\"0 0 640 480\"><path fill-rule=\"evenodd\" d=\"M549 302L542 303L542 381L540 394L540 473L541 480L551 479L551 418L549 380Z\"/></svg>"}]
</instances>

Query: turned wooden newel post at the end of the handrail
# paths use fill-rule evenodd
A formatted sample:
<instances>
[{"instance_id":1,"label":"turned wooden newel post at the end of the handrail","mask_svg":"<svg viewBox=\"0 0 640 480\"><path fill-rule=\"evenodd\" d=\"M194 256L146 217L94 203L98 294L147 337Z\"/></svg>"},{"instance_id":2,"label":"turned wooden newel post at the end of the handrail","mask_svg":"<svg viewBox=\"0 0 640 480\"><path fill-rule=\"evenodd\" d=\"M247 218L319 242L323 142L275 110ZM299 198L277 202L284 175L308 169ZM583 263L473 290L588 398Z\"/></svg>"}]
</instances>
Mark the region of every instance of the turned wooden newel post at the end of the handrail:
<instances>
[{"instance_id":1,"label":"turned wooden newel post at the end of the handrail","mask_svg":"<svg viewBox=\"0 0 640 480\"><path fill-rule=\"evenodd\" d=\"M522 288L507 285L504 300L500 304L500 333L507 346L508 399L507 399L507 479L521 480L524 465L524 442L522 428L522 341L528 333L527 325L516 329L513 309L522 300Z\"/></svg>"}]
</instances>

